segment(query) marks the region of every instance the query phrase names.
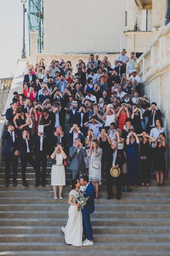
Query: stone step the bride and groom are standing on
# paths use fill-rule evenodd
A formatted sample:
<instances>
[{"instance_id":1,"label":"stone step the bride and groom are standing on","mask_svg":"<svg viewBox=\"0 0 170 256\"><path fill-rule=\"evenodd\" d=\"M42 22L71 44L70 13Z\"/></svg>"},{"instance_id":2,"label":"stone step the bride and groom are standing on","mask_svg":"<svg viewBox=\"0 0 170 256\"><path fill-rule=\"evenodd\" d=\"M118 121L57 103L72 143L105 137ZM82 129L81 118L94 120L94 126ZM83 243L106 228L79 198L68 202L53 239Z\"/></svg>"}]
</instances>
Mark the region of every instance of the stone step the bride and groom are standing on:
<instances>
[{"instance_id":1,"label":"stone step the bride and groom are standing on","mask_svg":"<svg viewBox=\"0 0 170 256\"><path fill-rule=\"evenodd\" d=\"M162 250L170 250L170 244L168 243L94 243L93 247L68 247L65 243L1 243L0 251L15 251L15 250L56 250L56 251L81 251L91 253L93 251L125 251L125 250L149 250L149 251L159 251L161 253Z\"/></svg>"}]
</instances>

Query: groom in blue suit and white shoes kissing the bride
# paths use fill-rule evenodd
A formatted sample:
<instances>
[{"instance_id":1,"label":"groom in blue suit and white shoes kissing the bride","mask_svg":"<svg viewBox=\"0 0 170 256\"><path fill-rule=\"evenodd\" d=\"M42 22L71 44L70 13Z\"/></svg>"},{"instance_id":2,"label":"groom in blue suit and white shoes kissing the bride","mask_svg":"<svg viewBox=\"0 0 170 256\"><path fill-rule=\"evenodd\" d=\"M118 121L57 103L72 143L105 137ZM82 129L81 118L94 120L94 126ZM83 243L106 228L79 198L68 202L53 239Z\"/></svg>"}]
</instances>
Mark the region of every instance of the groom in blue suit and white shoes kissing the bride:
<instances>
[{"instance_id":1,"label":"groom in blue suit and white shoes kissing the bride","mask_svg":"<svg viewBox=\"0 0 170 256\"><path fill-rule=\"evenodd\" d=\"M85 234L85 241L82 242L83 246L91 246L93 245L93 232L92 232L92 225L90 222L90 213L94 211L94 186L89 181L88 176L82 175L80 179L81 186L85 186L85 193L84 197L89 197L87 204L82 209L82 216L83 216L83 230Z\"/></svg>"}]
</instances>

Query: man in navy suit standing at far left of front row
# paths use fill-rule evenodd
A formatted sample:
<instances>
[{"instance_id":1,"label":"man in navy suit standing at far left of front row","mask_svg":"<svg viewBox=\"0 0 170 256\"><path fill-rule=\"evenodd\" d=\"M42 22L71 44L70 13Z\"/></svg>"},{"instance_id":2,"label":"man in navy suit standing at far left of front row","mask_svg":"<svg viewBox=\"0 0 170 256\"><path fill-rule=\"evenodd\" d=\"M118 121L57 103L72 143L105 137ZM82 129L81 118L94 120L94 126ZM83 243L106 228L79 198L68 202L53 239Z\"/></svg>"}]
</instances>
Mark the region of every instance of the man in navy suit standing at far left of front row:
<instances>
[{"instance_id":1,"label":"man in navy suit standing at far left of front row","mask_svg":"<svg viewBox=\"0 0 170 256\"><path fill-rule=\"evenodd\" d=\"M8 130L3 132L2 139L5 140L5 145L2 154L5 156L5 186L9 186L10 167L12 163L13 185L17 186L17 160L19 154L18 136L15 131L14 123L8 123Z\"/></svg>"}]
</instances>

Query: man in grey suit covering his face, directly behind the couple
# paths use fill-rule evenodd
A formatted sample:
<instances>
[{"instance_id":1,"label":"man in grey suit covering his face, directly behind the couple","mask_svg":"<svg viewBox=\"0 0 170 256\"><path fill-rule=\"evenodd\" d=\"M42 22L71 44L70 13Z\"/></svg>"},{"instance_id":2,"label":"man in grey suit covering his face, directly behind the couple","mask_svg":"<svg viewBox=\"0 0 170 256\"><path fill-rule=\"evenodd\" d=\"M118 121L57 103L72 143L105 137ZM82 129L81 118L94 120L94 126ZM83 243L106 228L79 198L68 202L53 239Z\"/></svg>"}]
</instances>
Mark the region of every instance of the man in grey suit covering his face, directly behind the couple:
<instances>
[{"instance_id":1,"label":"man in grey suit covering his face, directly behind the couple","mask_svg":"<svg viewBox=\"0 0 170 256\"><path fill-rule=\"evenodd\" d=\"M76 138L74 146L69 148L69 156L71 158L69 169L71 170L72 180L80 180L80 175L85 172L84 157L87 156L87 153L79 138Z\"/></svg>"}]
</instances>

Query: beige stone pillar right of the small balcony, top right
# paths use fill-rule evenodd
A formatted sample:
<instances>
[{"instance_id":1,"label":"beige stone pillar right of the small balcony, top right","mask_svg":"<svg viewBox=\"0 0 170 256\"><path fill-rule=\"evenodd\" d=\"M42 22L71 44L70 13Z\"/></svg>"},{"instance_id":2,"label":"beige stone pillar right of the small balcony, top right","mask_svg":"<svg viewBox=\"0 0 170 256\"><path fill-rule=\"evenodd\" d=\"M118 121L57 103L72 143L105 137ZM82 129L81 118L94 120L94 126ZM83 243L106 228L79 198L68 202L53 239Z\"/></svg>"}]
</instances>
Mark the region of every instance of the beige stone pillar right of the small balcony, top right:
<instances>
[{"instance_id":1,"label":"beige stone pillar right of the small balcony, top right","mask_svg":"<svg viewBox=\"0 0 170 256\"><path fill-rule=\"evenodd\" d=\"M152 30L158 30L164 25L164 11L166 11L167 0L153 0Z\"/></svg>"}]
</instances>

